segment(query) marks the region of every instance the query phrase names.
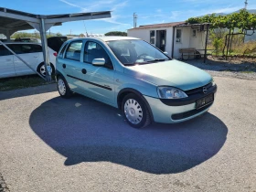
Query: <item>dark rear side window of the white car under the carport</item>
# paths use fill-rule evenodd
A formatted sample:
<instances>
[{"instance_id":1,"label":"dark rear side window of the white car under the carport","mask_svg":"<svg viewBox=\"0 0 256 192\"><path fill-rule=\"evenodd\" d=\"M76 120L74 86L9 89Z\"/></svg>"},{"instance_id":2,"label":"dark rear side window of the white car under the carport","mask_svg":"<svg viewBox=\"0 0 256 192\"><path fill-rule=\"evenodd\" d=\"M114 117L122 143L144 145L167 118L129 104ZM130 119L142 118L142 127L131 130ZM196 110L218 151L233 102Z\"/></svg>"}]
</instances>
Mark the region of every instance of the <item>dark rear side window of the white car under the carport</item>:
<instances>
[{"instance_id":1,"label":"dark rear side window of the white car under the carport","mask_svg":"<svg viewBox=\"0 0 256 192\"><path fill-rule=\"evenodd\" d=\"M38 53L42 52L40 45L33 44L12 44L10 48L15 51L16 54Z\"/></svg>"}]
</instances>

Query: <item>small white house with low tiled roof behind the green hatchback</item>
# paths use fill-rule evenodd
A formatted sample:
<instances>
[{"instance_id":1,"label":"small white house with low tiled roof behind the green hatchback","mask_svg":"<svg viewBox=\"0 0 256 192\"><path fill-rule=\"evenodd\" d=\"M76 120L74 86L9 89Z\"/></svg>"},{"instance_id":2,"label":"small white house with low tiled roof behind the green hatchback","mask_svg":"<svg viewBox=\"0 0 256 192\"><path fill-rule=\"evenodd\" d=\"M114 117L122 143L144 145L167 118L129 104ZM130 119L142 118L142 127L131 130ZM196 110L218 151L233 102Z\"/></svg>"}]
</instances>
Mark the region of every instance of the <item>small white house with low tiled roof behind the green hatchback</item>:
<instances>
[{"instance_id":1,"label":"small white house with low tiled roof behind the green hatchback","mask_svg":"<svg viewBox=\"0 0 256 192\"><path fill-rule=\"evenodd\" d=\"M208 25L185 22L146 25L128 29L128 36L141 38L178 59L181 58L180 48L195 48L205 53Z\"/></svg>"}]
</instances>

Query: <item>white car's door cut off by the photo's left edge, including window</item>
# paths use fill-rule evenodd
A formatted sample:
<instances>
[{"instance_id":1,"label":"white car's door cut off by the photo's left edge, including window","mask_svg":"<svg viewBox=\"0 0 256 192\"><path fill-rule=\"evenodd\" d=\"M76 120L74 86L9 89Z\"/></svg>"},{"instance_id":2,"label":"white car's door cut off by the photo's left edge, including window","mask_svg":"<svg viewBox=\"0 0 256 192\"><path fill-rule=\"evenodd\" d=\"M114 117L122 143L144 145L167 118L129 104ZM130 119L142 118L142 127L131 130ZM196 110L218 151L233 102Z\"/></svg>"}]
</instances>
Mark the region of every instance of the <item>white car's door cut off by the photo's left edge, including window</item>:
<instances>
[{"instance_id":1,"label":"white car's door cut off by the photo's left edge, including window","mask_svg":"<svg viewBox=\"0 0 256 192\"><path fill-rule=\"evenodd\" d=\"M16 76L14 55L4 46L0 45L0 78Z\"/></svg>"}]
</instances>

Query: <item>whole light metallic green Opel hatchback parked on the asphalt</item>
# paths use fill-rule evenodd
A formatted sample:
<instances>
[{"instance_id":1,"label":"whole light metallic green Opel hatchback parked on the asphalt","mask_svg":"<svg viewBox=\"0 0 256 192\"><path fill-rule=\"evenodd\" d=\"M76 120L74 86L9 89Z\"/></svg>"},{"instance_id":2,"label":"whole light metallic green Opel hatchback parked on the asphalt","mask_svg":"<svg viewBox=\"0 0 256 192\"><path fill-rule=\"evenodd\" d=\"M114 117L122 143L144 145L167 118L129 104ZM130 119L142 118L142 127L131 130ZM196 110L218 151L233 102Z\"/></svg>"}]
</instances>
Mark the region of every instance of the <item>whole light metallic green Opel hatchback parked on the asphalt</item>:
<instances>
[{"instance_id":1,"label":"whole light metallic green Opel hatchback parked on the asphalt","mask_svg":"<svg viewBox=\"0 0 256 192\"><path fill-rule=\"evenodd\" d=\"M77 92L112 105L135 128L197 117L208 111L217 91L204 70L134 37L69 40L60 48L56 67L61 97Z\"/></svg>"}]
</instances>

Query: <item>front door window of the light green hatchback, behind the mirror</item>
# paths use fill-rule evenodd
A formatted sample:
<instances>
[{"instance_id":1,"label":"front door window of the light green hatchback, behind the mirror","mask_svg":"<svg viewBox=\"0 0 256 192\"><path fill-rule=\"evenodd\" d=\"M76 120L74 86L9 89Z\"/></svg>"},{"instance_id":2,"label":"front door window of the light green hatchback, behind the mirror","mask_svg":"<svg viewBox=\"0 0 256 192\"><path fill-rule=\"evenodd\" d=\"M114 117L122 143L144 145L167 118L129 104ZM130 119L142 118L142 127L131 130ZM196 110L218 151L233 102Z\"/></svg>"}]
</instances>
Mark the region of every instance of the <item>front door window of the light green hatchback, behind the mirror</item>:
<instances>
[{"instance_id":1,"label":"front door window of the light green hatchback, behind the mirror","mask_svg":"<svg viewBox=\"0 0 256 192\"><path fill-rule=\"evenodd\" d=\"M98 43L89 41L86 43L84 48L83 61L86 63L92 63L93 59L105 59L105 66L112 68L112 61L104 50Z\"/></svg>"}]
</instances>

